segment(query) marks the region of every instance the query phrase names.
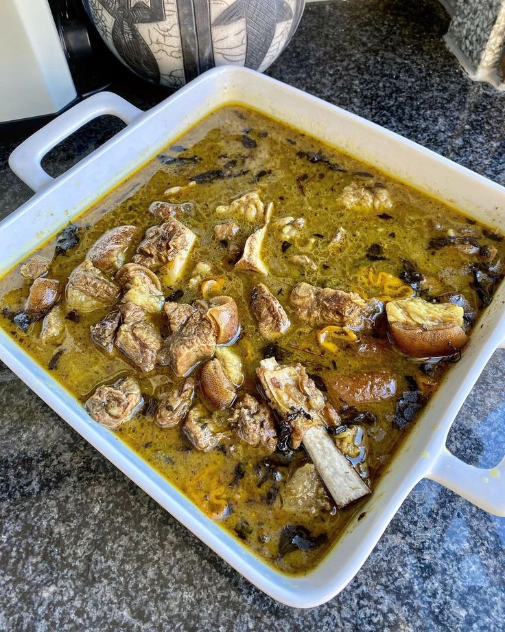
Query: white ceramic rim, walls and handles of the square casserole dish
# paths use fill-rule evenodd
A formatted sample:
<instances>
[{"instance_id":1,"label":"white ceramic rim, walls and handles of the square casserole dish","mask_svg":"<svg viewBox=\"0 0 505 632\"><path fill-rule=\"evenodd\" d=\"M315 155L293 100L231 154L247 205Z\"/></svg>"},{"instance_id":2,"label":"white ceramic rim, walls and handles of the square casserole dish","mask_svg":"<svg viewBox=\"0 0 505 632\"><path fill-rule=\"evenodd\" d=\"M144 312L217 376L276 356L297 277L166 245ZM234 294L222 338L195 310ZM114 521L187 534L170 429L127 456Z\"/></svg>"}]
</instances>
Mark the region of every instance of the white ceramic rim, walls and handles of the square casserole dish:
<instances>
[{"instance_id":1,"label":"white ceramic rim, walls and handles of the square casserole dish","mask_svg":"<svg viewBox=\"0 0 505 632\"><path fill-rule=\"evenodd\" d=\"M505 232L505 188L407 139L311 95L254 71L213 69L143 113L122 98L101 93L76 105L16 148L10 166L36 195L0 224L0 273L66 225L174 137L213 109L240 102L273 115L355 157L464 209ZM40 166L45 153L98 115L127 123L101 148L57 179ZM21 246L20 246L21 245ZM82 406L0 330L0 359L40 398L161 506L259 589L293 607L314 607L353 578L414 485L434 479L481 508L505 516L505 459L490 470L454 457L445 439L484 365L505 339L505 287L473 331L469 346L408 433L388 471L322 562L304 576L286 576L266 565L116 436L89 418Z\"/></svg>"}]
</instances>

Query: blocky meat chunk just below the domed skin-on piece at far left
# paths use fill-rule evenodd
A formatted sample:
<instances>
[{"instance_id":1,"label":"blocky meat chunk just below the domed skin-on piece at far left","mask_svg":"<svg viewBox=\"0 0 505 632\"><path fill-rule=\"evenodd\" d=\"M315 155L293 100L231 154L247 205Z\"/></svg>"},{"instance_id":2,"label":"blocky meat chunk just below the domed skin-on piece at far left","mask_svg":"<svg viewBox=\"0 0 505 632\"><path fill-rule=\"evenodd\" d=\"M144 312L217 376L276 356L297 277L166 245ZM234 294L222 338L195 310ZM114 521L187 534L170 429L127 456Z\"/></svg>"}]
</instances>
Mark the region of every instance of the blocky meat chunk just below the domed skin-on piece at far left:
<instances>
[{"instance_id":1,"label":"blocky meat chunk just below the domed skin-on piece at far left","mask_svg":"<svg viewBox=\"0 0 505 632\"><path fill-rule=\"evenodd\" d=\"M78 312L91 312L113 305L119 292L117 284L108 280L90 259L84 259L69 275L67 304Z\"/></svg>"}]
</instances>

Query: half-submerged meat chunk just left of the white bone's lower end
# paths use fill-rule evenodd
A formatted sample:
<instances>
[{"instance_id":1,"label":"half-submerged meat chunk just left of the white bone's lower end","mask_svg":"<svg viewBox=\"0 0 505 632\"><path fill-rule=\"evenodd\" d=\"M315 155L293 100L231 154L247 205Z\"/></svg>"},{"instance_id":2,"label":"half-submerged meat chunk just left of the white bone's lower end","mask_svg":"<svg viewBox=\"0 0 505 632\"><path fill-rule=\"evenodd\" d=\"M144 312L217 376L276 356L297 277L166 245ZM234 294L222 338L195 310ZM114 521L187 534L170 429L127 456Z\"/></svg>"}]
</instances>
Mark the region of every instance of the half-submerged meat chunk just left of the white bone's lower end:
<instances>
[{"instance_id":1,"label":"half-submerged meat chunk just left of the white bone's lower end","mask_svg":"<svg viewBox=\"0 0 505 632\"><path fill-rule=\"evenodd\" d=\"M281 499L283 510L292 513L317 516L331 510L331 501L314 463L296 468L281 491Z\"/></svg>"}]
</instances>

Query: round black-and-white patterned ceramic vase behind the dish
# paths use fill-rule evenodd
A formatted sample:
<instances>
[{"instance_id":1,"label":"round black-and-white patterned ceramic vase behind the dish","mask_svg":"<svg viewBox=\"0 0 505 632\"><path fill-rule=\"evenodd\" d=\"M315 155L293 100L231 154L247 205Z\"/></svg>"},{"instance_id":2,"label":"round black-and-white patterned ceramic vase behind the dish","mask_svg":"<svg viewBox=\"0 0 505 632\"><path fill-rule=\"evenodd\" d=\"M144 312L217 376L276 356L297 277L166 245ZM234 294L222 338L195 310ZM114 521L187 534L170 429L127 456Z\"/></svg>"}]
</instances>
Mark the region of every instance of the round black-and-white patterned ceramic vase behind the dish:
<instances>
[{"instance_id":1,"label":"round black-and-white patterned ceramic vase behind the dish","mask_svg":"<svg viewBox=\"0 0 505 632\"><path fill-rule=\"evenodd\" d=\"M296 31L305 0L84 0L84 5L126 66L178 88L213 66L268 68Z\"/></svg>"}]
</instances>

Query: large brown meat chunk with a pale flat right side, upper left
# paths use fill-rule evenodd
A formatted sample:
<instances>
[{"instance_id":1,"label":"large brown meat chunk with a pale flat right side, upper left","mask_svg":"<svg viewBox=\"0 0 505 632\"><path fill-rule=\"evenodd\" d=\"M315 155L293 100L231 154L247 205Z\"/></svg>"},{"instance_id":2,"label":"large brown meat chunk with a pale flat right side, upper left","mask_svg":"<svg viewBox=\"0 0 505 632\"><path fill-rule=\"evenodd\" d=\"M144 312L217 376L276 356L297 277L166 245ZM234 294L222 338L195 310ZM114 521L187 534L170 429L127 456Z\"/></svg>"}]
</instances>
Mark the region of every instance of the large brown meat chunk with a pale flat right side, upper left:
<instances>
[{"instance_id":1,"label":"large brown meat chunk with a pale flat right side, upper left","mask_svg":"<svg viewBox=\"0 0 505 632\"><path fill-rule=\"evenodd\" d=\"M171 217L161 226L152 226L137 248L132 262L159 271L166 285L176 281L185 267L196 235Z\"/></svg>"}]
</instances>

